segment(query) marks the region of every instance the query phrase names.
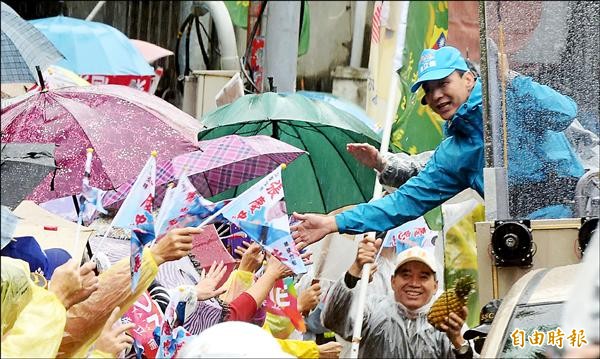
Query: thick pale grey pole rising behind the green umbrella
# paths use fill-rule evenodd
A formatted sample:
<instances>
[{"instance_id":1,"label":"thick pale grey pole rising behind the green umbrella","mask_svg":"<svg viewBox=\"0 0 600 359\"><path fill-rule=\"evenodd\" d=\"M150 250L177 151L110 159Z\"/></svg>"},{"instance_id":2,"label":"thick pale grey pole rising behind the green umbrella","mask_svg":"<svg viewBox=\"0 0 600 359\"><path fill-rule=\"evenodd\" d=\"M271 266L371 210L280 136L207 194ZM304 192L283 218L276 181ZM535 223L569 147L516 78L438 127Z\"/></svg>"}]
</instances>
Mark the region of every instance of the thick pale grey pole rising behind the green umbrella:
<instances>
[{"instance_id":1,"label":"thick pale grey pole rising behind the green umbrella","mask_svg":"<svg viewBox=\"0 0 600 359\"><path fill-rule=\"evenodd\" d=\"M269 1L265 41L265 77L279 92L296 92L300 1Z\"/></svg>"}]
</instances>

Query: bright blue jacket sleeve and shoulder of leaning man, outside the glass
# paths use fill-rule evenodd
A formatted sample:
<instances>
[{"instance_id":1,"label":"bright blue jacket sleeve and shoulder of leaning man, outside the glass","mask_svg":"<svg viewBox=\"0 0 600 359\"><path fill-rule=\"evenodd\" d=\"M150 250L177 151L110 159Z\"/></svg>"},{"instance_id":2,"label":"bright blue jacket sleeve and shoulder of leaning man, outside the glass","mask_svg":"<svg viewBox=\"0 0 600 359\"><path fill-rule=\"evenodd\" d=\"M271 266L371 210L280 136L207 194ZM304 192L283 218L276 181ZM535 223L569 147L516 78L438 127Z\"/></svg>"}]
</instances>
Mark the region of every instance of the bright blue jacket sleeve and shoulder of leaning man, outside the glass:
<instances>
[{"instance_id":1,"label":"bright blue jacket sleeve and shoulder of leaning man, outside the glass","mask_svg":"<svg viewBox=\"0 0 600 359\"><path fill-rule=\"evenodd\" d=\"M425 168L394 193L335 216L340 233L385 231L413 220L466 188L483 197L481 82L445 125L446 138Z\"/></svg>"}]
</instances>

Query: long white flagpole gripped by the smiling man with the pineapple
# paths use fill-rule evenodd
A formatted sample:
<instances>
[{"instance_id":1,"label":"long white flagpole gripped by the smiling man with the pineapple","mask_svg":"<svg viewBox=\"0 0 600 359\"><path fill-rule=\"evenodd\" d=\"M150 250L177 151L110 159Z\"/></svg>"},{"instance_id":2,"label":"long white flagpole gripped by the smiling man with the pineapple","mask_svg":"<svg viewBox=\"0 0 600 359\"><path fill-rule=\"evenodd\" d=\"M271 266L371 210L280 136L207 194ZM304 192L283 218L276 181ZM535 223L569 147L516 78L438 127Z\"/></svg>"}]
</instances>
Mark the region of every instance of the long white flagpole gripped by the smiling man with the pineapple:
<instances>
[{"instance_id":1,"label":"long white flagpole gripped by the smiling man with the pineapple","mask_svg":"<svg viewBox=\"0 0 600 359\"><path fill-rule=\"evenodd\" d=\"M398 3L390 3L390 13L391 11L391 6L395 6ZM398 34L397 36L397 42L396 42L396 54L402 54L403 50L404 50L404 39L406 36L406 23L407 23L407 19L408 19L408 6L409 6L409 1L402 1L400 3L400 24L398 26ZM394 66L395 67L395 66ZM392 79L390 81L390 87L389 87L389 91L388 91L388 101L386 103L386 116L385 116L385 125L383 128L383 134L381 136L381 146L379 148L379 153L380 155L384 155L388 152L388 147L389 147L389 143L390 143L390 135L392 132L392 124L394 122L394 113L396 112L396 108L397 108L397 94L398 94L398 89L399 89L399 85L400 85L400 79L399 79L399 75L396 72L395 68L392 68ZM379 199L381 198L381 190L382 190L382 186L381 183L379 183L379 181L375 181L375 186L373 188L373 199ZM366 234L366 236L370 236L371 238L375 238L375 232L369 232ZM381 247L383 247L383 243L381 244ZM381 251L380 251L381 252ZM372 264L371 263L366 263L365 265L363 265L363 269L362 269L362 274L361 274L361 280L360 280L360 288L359 288L359 294L358 294L358 305L356 307L356 315L354 317L354 326L353 326L353 333L352 333L352 347L350 349L350 358L358 358L358 349L360 347L360 341L361 341L361 332L362 332L362 322L363 322L363 315L365 312L365 304L366 304L366 299L367 299L367 289L369 286L369 276L371 274L371 268L372 268Z\"/></svg>"}]
</instances>

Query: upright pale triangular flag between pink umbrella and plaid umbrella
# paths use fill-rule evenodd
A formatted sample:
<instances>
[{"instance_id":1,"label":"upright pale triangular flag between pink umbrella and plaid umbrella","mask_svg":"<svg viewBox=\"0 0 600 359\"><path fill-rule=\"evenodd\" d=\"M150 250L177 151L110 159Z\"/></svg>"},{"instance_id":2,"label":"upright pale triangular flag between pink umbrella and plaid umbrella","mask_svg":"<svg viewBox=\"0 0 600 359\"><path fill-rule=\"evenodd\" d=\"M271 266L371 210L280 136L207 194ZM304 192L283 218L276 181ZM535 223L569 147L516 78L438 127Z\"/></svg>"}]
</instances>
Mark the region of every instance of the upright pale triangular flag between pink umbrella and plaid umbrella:
<instances>
[{"instance_id":1,"label":"upright pale triangular flag between pink umbrella and plaid umbrella","mask_svg":"<svg viewBox=\"0 0 600 359\"><path fill-rule=\"evenodd\" d=\"M141 229L154 234L152 206L156 186L156 152L153 152L138 175L123 201L121 208L112 220L111 226L127 229ZM145 236L147 238L147 236ZM143 243L146 244L146 243Z\"/></svg>"}]
</instances>

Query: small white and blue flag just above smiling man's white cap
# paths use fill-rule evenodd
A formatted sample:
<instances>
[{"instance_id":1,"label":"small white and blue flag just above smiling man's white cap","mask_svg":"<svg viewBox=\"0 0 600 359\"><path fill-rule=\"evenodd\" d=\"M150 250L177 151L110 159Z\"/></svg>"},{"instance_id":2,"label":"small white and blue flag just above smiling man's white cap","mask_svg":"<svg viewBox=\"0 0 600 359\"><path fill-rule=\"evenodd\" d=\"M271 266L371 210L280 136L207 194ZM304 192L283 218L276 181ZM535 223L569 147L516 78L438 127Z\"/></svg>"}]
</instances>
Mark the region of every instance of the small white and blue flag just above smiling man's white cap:
<instances>
[{"instance_id":1,"label":"small white and blue flag just above smiling man's white cap","mask_svg":"<svg viewBox=\"0 0 600 359\"><path fill-rule=\"evenodd\" d=\"M400 253L410 247L433 248L436 232L429 229L423 217L419 217L401 226L390 229L383 241L384 247L395 247Z\"/></svg>"}]
</instances>

